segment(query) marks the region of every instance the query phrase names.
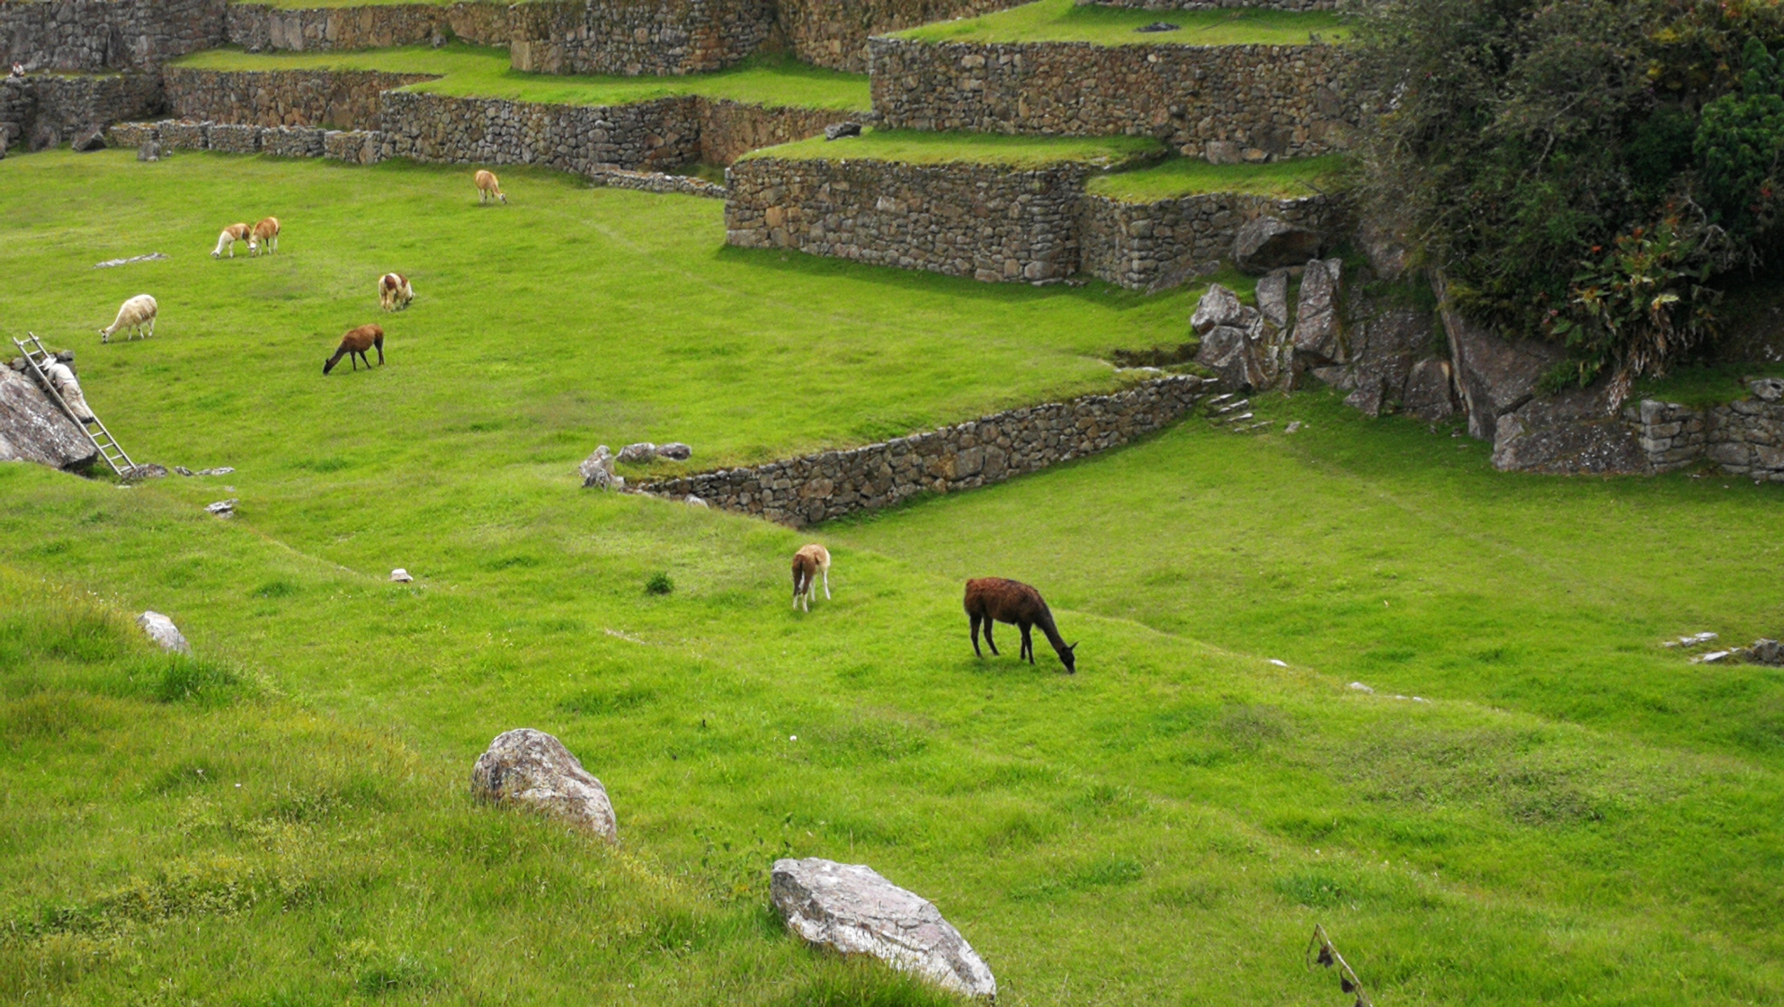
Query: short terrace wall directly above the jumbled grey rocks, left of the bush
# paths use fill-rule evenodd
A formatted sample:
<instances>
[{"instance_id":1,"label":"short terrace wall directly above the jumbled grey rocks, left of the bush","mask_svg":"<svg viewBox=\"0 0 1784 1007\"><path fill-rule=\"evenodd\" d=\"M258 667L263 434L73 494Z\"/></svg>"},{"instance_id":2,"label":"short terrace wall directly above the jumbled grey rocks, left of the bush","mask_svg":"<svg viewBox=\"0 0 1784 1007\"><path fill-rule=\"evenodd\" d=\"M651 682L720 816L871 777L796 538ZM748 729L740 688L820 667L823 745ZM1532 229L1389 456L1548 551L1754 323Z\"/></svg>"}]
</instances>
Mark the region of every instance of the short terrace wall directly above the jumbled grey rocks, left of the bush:
<instances>
[{"instance_id":1,"label":"short terrace wall directly above the jumbled grey rocks, left of the bush","mask_svg":"<svg viewBox=\"0 0 1784 1007\"><path fill-rule=\"evenodd\" d=\"M1206 192L1156 203L1085 196L1083 271L1097 280L1144 291L1174 266L1231 258L1238 228L1261 216L1320 233L1338 233L1343 228L1343 207L1326 196L1274 200Z\"/></svg>"}]
</instances>

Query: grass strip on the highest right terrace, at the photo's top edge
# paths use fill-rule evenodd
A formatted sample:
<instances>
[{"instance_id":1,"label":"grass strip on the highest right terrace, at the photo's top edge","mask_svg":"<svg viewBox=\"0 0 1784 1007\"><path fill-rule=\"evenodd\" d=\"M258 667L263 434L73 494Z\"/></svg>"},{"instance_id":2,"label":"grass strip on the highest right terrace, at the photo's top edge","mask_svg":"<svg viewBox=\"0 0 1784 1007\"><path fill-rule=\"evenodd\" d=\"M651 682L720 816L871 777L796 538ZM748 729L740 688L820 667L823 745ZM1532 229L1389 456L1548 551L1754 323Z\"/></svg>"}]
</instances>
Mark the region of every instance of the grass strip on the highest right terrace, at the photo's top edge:
<instances>
[{"instance_id":1,"label":"grass strip on the highest right terrace, at the photo's top edge","mask_svg":"<svg viewBox=\"0 0 1784 1007\"><path fill-rule=\"evenodd\" d=\"M1136 32L1165 21L1176 32ZM929 43L1095 43L1095 45L1308 45L1349 37L1343 21L1326 11L1136 11L1076 0L1038 0L1008 11L937 21L894 32L894 37Z\"/></svg>"}]
</instances>

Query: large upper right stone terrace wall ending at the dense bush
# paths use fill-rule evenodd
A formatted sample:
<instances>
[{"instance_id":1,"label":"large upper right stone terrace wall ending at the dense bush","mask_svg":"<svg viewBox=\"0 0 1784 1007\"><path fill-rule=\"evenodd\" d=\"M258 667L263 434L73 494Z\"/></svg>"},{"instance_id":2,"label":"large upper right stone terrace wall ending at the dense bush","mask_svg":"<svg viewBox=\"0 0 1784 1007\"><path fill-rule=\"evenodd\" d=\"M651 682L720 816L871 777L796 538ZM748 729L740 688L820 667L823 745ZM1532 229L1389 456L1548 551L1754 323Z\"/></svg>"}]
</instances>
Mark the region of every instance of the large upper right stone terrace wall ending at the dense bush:
<instances>
[{"instance_id":1,"label":"large upper right stone terrace wall ending at the dense bush","mask_svg":"<svg viewBox=\"0 0 1784 1007\"><path fill-rule=\"evenodd\" d=\"M1158 135L1188 157L1265 160L1349 146L1342 46L869 43L885 127ZM1231 144L1215 148L1210 144ZM1220 153L1231 150L1229 155Z\"/></svg>"}]
</instances>

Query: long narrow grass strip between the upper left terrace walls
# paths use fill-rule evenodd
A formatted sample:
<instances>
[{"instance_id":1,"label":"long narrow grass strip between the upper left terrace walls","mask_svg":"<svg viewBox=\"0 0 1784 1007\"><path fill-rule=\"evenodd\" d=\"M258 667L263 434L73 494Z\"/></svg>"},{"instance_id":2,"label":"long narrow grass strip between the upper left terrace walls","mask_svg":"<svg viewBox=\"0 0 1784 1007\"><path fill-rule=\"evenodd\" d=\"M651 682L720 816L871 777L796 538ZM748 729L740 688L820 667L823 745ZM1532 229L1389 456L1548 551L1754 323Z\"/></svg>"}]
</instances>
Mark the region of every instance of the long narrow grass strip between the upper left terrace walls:
<instances>
[{"instance_id":1,"label":"long narrow grass strip between the upper left terrace walls","mask_svg":"<svg viewBox=\"0 0 1784 1007\"><path fill-rule=\"evenodd\" d=\"M865 112L872 102L867 77L821 70L783 57L753 57L731 70L687 77L557 77L521 73L508 66L508 50L467 45L405 46L355 52L248 53L216 48L173 61L198 70L385 70L437 73L439 80L410 91L458 98L508 98L551 105L624 105L676 94L705 94L767 107L849 109Z\"/></svg>"}]
</instances>

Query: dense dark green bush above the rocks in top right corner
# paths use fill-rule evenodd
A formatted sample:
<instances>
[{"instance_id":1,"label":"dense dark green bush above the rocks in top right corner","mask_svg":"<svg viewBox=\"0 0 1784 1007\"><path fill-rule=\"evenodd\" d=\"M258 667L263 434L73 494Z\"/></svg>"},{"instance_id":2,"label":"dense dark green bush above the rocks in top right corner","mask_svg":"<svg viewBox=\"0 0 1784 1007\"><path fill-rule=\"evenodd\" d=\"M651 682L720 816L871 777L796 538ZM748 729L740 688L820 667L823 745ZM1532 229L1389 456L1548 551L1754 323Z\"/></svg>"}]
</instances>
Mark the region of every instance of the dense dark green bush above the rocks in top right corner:
<instances>
[{"instance_id":1,"label":"dense dark green bush above the rocks in top right corner","mask_svg":"<svg viewBox=\"0 0 1784 1007\"><path fill-rule=\"evenodd\" d=\"M1365 191L1459 307L1565 342L1557 380L1657 373L1764 260L1784 14L1763 0L1386 0L1356 14Z\"/></svg>"}]
</instances>

